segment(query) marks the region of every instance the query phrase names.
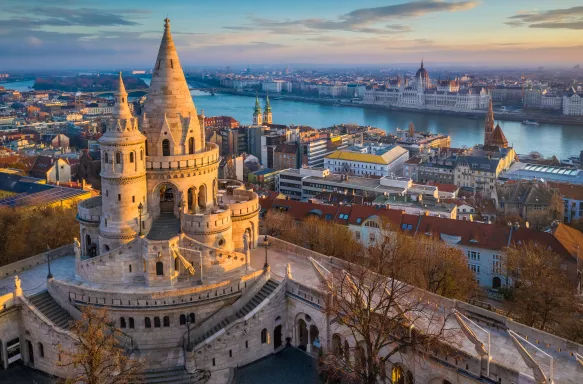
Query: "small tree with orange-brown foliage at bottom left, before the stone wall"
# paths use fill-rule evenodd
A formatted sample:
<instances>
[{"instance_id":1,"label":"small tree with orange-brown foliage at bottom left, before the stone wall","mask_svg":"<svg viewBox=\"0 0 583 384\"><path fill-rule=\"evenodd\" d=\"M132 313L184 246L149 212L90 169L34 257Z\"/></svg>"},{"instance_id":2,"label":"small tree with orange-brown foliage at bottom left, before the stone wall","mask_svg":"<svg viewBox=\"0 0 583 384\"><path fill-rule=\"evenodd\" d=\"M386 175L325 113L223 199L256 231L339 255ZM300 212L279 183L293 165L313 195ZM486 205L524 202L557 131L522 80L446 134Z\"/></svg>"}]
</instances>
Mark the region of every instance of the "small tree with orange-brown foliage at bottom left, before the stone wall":
<instances>
[{"instance_id":1,"label":"small tree with orange-brown foliage at bottom left, before the stone wall","mask_svg":"<svg viewBox=\"0 0 583 384\"><path fill-rule=\"evenodd\" d=\"M133 359L120 339L123 333L115 327L105 309L87 307L70 331L75 335L76 348L64 349L58 365L74 367L76 375L66 384L138 384L142 382L144 362Z\"/></svg>"}]
</instances>

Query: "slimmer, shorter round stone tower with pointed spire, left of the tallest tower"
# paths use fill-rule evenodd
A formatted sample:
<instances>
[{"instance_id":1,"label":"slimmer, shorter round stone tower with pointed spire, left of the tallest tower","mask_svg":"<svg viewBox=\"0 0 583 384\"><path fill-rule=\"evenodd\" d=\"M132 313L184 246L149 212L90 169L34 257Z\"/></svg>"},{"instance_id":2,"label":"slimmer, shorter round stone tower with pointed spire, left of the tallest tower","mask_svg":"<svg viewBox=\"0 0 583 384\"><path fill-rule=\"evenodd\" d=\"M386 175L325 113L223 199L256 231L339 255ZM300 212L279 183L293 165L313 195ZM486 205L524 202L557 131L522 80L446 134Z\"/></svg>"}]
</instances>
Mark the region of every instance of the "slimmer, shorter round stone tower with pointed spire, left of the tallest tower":
<instances>
[{"instance_id":1,"label":"slimmer, shorter round stone tower with pointed spire, left of the tallest tower","mask_svg":"<svg viewBox=\"0 0 583 384\"><path fill-rule=\"evenodd\" d=\"M112 118L106 124L105 134L99 139L103 207L99 224L101 253L135 238L140 231L140 203L143 207L142 223L145 224L148 218L146 137L138 130L138 121L132 116L127 96L120 73Z\"/></svg>"}]
</instances>

